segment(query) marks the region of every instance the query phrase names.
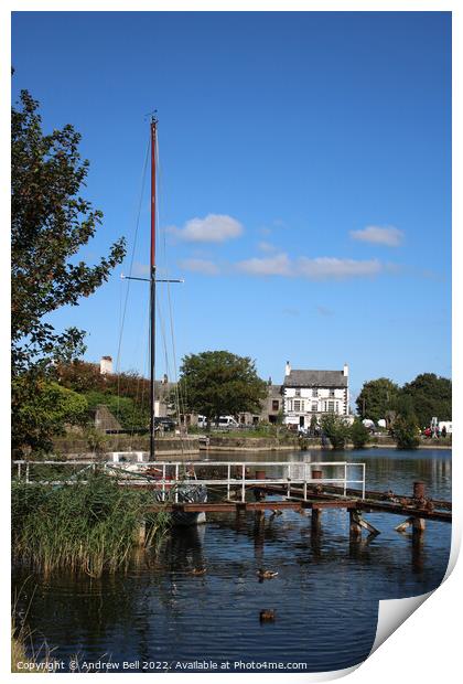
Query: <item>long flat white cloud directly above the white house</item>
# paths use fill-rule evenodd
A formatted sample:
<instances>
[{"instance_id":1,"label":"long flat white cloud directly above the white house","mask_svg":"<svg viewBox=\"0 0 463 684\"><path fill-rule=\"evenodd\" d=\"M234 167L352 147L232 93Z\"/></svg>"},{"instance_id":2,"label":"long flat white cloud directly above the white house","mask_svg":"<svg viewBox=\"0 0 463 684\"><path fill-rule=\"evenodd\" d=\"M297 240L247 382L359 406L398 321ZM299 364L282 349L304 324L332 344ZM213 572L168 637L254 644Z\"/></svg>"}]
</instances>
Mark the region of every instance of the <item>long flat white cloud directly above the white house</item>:
<instances>
[{"instance_id":1,"label":"long flat white cloud directly above the white house","mask_svg":"<svg viewBox=\"0 0 463 684\"><path fill-rule=\"evenodd\" d=\"M338 259L336 257L319 257L308 259L301 257L297 263L297 272L311 280L338 280L343 278L357 278L362 276L376 276L383 270L378 259L356 260Z\"/></svg>"}]
</instances>

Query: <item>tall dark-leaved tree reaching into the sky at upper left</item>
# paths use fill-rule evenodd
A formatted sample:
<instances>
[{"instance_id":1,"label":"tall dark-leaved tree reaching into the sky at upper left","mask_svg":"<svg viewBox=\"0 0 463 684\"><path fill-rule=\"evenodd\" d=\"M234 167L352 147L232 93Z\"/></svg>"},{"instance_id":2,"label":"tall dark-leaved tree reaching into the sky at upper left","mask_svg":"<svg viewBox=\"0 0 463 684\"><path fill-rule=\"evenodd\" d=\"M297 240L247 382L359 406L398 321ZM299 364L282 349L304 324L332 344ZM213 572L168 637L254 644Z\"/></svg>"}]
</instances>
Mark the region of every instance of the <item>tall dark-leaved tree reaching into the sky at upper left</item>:
<instances>
[{"instance_id":1,"label":"tall dark-leaved tree reaching into the sky at upper left","mask_svg":"<svg viewBox=\"0 0 463 684\"><path fill-rule=\"evenodd\" d=\"M46 317L91 295L125 256L125 241L96 266L76 260L95 235L103 213L78 193L88 161L78 152L80 135L69 125L44 135L39 104L21 92L12 108L11 135L11 336L13 374L79 356L83 331L56 332Z\"/></svg>"}]
</instances>

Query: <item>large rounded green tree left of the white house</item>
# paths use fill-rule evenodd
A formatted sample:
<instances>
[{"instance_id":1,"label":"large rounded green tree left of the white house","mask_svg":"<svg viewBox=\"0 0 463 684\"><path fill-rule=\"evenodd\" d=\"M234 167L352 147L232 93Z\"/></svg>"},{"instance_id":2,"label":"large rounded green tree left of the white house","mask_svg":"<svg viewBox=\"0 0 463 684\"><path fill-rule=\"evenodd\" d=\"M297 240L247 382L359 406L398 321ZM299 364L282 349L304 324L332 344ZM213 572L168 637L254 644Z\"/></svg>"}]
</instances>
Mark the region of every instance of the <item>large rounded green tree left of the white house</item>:
<instances>
[{"instance_id":1,"label":"large rounded green tree left of the white house","mask_svg":"<svg viewBox=\"0 0 463 684\"><path fill-rule=\"evenodd\" d=\"M256 373L255 362L227 351L202 352L183 357L179 381L185 410L207 423L219 416L260 412L267 383Z\"/></svg>"}]
</instances>

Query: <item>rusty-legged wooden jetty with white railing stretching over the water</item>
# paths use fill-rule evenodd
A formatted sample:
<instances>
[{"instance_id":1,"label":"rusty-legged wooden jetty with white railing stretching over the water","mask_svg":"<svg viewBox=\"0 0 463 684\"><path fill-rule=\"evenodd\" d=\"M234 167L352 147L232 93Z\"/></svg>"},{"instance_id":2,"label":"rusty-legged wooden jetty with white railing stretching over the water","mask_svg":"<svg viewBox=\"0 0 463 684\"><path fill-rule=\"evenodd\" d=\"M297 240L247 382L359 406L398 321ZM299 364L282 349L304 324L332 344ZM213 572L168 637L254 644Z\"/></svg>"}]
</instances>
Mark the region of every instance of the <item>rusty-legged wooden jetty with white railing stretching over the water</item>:
<instances>
[{"instance_id":1,"label":"rusty-legged wooden jetty with white railing stretching over the water","mask_svg":"<svg viewBox=\"0 0 463 684\"><path fill-rule=\"evenodd\" d=\"M14 461L18 477L22 474L26 482L31 479L31 467L72 466L69 461ZM82 461L75 466L82 468L79 480L76 473L61 481L47 480L46 484L76 484L83 482L85 471L99 468L117 477L118 484L130 488L144 488L158 492L160 501L153 502L147 512L159 510L184 513L250 513L265 514L284 510L311 511L312 532L321 528L322 513L326 510L341 509L349 513L352 537L360 537L363 531L369 535L379 534L365 517L365 513L378 512L400 515L406 520L395 530L403 532L411 526L413 535L421 534L426 521L452 521L452 504L449 501L432 500L427 496L423 482L413 482L410 495L369 491L365 485L365 463L329 462L288 462L288 461L200 461L184 462L89 462ZM130 468L134 467L134 470ZM268 474L268 469L273 474ZM352 469L360 471L351 474ZM326 475L331 477L326 477ZM84 475L85 477L85 475ZM217 501L186 503L179 500L177 485L185 481L205 484L215 492ZM35 480L37 482L37 480ZM349 485L360 484L362 489ZM272 496L268 499L267 496ZM273 499L280 496L280 499Z\"/></svg>"}]
</instances>

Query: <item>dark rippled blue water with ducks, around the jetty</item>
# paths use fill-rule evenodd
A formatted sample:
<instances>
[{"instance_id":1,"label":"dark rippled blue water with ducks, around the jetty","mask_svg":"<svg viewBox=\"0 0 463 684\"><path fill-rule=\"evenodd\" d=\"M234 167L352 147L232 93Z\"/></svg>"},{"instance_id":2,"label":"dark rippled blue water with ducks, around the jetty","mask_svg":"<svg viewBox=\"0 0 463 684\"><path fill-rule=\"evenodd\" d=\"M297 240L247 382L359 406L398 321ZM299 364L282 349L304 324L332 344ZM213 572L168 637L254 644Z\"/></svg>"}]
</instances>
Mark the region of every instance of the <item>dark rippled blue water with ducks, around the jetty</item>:
<instances>
[{"instance_id":1,"label":"dark rippled blue water with ducks, around the jetty","mask_svg":"<svg viewBox=\"0 0 463 684\"><path fill-rule=\"evenodd\" d=\"M214 460L244 460L223 455ZM410 493L422 480L433 498L451 499L451 451L372 449L333 452L250 453L247 460L348 460L366 462L367 489ZM123 662L142 671L213 661L303 663L300 671L348 667L364 660L376 632L378 600L423 594L445 574L451 526L428 522L420 543L398 534L400 517L366 515L381 534L349 542L345 511L323 513L322 533L311 538L310 513L208 515L206 525L175 531L155 560L134 558L127 575L100 580L60 575L44 580L18 573L19 609L35 648L44 640L53 656L85 663ZM202 577L191 568L207 567ZM278 570L259 581L259 567ZM262 609L276 621L261 623ZM196 666L197 669L197 666ZM224 670L223 670L224 671ZM236 670L245 672L246 670Z\"/></svg>"}]
</instances>

